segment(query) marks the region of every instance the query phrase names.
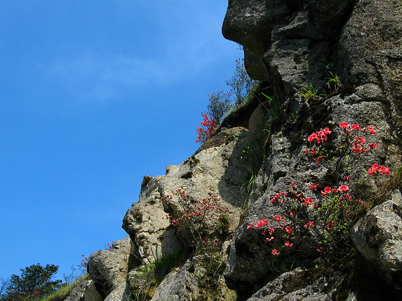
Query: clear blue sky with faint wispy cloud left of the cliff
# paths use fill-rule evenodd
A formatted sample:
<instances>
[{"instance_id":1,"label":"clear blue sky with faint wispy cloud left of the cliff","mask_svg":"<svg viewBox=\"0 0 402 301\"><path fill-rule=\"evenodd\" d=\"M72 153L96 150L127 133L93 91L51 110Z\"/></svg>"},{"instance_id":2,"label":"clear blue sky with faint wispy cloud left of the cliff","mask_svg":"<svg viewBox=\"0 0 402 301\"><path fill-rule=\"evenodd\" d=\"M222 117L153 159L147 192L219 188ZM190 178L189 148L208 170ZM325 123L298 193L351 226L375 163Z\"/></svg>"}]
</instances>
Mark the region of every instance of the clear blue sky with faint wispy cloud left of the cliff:
<instances>
[{"instance_id":1,"label":"clear blue sky with faint wispy cloud left of the cliff","mask_svg":"<svg viewBox=\"0 0 402 301\"><path fill-rule=\"evenodd\" d=\"M207 94L237 45L227 1L0 2L0 276L59 278L124 238L144 175L197 148Z\"/></svg>"}]
</instances>

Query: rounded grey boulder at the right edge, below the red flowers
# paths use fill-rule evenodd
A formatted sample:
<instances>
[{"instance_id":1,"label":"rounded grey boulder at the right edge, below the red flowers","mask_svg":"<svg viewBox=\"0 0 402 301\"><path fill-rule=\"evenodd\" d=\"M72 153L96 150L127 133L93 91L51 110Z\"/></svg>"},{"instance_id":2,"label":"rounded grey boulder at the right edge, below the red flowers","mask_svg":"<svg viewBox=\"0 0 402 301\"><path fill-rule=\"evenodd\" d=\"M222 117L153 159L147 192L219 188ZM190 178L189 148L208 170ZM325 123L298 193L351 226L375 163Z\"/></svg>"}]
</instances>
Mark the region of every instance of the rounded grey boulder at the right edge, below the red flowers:
<instances>
[{"instance_id":1,"label":"rounded grey boulder at the right edge, below the red flowers","mask_svg":"<svg viewBox=\"0 0 402 301\"><path fill-rule=\"evenodd\" d=\"M353 228L356 248L386 282L402 288L402 197L374 207Z\"/></svg>"}]
</instances>

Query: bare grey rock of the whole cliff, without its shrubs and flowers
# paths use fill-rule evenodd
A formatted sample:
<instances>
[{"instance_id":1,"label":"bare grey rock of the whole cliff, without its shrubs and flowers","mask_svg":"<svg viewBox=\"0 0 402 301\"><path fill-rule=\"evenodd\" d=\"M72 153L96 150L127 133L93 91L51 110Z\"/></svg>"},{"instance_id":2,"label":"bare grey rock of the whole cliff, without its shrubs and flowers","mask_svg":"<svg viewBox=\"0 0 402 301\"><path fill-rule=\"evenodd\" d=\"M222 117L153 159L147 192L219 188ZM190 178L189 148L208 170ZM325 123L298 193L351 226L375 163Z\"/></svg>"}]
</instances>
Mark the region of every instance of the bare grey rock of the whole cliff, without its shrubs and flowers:
<instances>
[{"instance_id":1,"label":"bare grey rock of the whole cliff, without its shrubs and flowers","mask_svg":"<svg viewBox=\"0 0 402 301\"><path fill-rule=\"evenodd\" d=\"M95 300L121 300L143 285L142 267L162 254L189 247L188 237L166 219L166 213L178 215L178 207L159 202L183 186L190 200L217 197L230 208L230 229L235 233L225 242L227 254L220 260L226 262L227 287L236 290L239 301L380 301L384 296L399 300L400 191L394 191L392 200L382 198L381 187L389 178L365 177L363 181L361 175L373 163L391 169L402 166L402 4L394 0L229 0L222 32L244 46L249 75L266 81L261 89L272 101L254 99L252 105L225 119L225 127L181 165L167 166L164 176L144 177L139 202L123 220L131 239L115 244L113 252L98 251L92 256L88 272L93 282L86 291L91 286L99 292ZM327 86L329 71L339 76L340 87ZM318 93L304 98L300 89L309 83ZM288 253L288 257L282 251L279 265L284 267L279 275L270 251L283 247L283 242L268 242L261 230L247 226L280 214L282 209L269 200L288 190L290 183L311 198L319 196L306 189L309 184L335 183L325 168L300 162L312 132L329 127L335 136L342 121L373 125L377 130L378 148L352 162L350 169L351 178L362 183L355 185L359 198L377 206L353 228L358 252L352 258L348 255L331 265L317 259L315 248ZM253 147L258 152L248 153ZM253 167L252 185L248 173L256 162L259 171ZM245 185L251 187L250 194L245 193ZM245 205L247 210L242 208ZM200 289L206 272L197 264L197 256L189 257L157 287L149 283L148 297L212 300ZM285 260L303 267L283 272ZM215 273L212 278L222 282ZM218 295L224 299L225 292Z\"/></svg>"}]
</instances>

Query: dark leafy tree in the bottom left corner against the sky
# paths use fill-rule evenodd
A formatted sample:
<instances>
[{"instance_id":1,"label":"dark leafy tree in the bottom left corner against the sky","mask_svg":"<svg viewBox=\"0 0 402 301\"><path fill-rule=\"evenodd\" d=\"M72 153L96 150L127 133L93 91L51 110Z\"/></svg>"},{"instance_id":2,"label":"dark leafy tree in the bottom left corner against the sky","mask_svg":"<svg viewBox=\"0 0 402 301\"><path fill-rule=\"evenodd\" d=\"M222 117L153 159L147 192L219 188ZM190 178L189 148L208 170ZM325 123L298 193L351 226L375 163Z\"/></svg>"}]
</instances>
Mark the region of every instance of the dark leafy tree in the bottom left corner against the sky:
<instances>
[{"instance_id":1,"label":"dark leafy tree in the bottom left corner against the sky","mask_svg":"<svg viewBox=\"0 0 402 301\"><path fill-rule=\"evenodd\" d=\"M12 275L2 301L40 300L61 287L61 280L52 281L58 266L39 263L21 269L21 276Z\"/></svg>"}]
</instances>

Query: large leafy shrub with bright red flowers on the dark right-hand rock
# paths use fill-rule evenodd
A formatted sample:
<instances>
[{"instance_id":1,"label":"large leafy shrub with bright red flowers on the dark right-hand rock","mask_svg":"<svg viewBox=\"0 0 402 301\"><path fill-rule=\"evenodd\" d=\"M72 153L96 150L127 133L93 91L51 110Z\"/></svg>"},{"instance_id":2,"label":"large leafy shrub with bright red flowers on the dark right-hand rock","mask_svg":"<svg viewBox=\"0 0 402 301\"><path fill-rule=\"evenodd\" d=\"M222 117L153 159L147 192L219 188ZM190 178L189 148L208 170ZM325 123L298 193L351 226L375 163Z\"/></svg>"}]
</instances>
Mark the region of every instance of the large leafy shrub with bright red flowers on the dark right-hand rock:
<instances>
[{"instance_id":1,"label":"large leafy shrub with bright red flowers on the dark right-hand rock","mask_svg":"<svg viewBox=\"0 0 402 301\"><path fill-rule=\"evenodd\" d=\"M328 141L332 131L324 128L308 137L308 141L315 145L304 151L309 162L324 167L332 175L332 185L310 183L309 189L304 190L290 183L287 191L276 193L270 200L272 206L281 208L282 213L247 227L262 229L272 255L315 250L320 254L341 257L352 249L349 233L356 216L366 204L353 191L351 169L362 156L378 146L367 141L367 135L376 133L372 126L365 128L341 122L339 127L341 136L334 143ZM368 176L387 176L390 171L375 163L366 173Z\"/></svg>"}]
</instances>

